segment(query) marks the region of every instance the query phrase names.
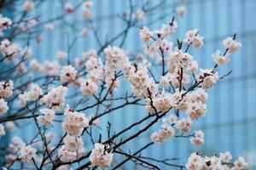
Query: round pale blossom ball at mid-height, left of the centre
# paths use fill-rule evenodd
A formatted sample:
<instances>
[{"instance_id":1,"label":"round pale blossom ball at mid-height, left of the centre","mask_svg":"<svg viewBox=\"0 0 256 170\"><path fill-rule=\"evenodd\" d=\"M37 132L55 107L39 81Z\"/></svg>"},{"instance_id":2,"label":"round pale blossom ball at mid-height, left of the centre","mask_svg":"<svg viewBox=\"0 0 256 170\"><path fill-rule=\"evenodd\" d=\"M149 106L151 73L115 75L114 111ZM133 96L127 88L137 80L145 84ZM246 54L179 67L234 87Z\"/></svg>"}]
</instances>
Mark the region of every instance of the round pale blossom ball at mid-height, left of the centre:
<instances>
[{"instance_id":1,"label":"round pale blossom ball at mid-height, left of the centre","mask_svg":"<svg viewBox=\"0 0 256 170\"><path fill-rule=\"evenodd\" d=\"M97 93L98 86L95 82L92 82L90 79L85 79L81 83L80 90L81 90L82 94L84 94L86 96L90 96L90 95Z\"/></svg>"}]
</instances>

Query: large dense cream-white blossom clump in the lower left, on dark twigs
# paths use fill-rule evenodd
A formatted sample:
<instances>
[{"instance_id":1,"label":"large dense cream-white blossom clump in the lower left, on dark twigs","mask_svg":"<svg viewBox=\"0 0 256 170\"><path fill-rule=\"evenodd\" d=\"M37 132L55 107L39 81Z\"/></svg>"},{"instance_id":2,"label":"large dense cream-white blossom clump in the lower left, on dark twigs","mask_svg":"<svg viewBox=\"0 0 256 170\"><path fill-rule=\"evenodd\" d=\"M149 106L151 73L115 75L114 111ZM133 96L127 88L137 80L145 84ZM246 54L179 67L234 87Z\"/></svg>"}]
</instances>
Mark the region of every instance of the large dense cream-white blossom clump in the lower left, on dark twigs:
<instances>
[{"instance_id":1,"label":"large dense cream-white blossom clump in the lower left, on dark twigs","mask_svg":"<svg viewBox=\"0 0 256 170\"><path fill-rule=\"evenodd\" d=\"M89 126L89 120L82 113L71 111L69 108L65 110L65 120L62 128L65 132L79 137L84 128Z\"/></svg>"}]
</instances>

